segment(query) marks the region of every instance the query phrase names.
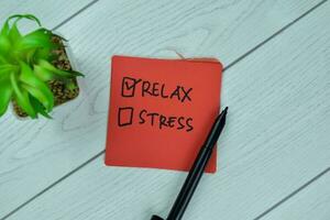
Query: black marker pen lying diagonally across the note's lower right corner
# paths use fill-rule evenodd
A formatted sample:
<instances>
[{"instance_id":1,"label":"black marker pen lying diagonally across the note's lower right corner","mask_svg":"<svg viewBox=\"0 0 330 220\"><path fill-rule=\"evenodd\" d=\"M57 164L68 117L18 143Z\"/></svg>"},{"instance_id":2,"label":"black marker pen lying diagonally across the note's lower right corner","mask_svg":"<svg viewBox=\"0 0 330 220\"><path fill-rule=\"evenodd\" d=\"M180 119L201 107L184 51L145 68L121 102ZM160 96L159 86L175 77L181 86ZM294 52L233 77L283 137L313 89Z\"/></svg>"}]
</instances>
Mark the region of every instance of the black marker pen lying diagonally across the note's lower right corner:
<instances>
[{"instance_id":1,"label":"black marker pen lying diagonally across the note's lower right corner","mask_svg":"<svg viewBox=\"0 0 330 220\"><path fill-rule=\"evenodd\" d=\"M224 128L226 116L228 107L217 117L212 129L201 146L194 165L190 168L190 172L186 178L186 182L177 196L175 204L172 207L172 210L166 220L180 220L185 213L185 210L194 195L194 191L204 174L205 167L208 164L209 158L211 157L212 150ZM153 216L151 220L164 220L158 216Z\"/></svg>"}]
</instances>

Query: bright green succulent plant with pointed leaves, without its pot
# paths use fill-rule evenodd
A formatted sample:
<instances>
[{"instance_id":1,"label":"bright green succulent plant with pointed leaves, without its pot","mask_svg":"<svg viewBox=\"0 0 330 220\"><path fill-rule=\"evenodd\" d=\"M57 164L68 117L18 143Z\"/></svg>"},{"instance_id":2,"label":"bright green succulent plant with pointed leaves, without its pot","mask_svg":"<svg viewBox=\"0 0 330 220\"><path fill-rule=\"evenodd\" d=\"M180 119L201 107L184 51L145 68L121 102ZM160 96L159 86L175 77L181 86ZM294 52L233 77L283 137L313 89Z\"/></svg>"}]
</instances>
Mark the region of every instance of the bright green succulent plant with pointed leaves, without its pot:
<instances>
[{"instance_id":1,"label":"bright green succulent plant with pointed leaves, without its pot","mask_svg":"<svg viewBox=\"0 0 330 220\"><path fill-rule=\"evenodd\" d=\"M22 35L18 29L18 22L22 19L34 21L38 28ZM82 76L78 72L58 69L52 64L58 58L52 52L63 47L52 41L54 36L57 35L42 28L40 20L32 14L12 15L4 22L0 32L0 117L10 101L15 101L32 119L38 114L50 118L54 95L47 82L61 79L73 88L72 79Z\"/></svg>"}]
</instances>

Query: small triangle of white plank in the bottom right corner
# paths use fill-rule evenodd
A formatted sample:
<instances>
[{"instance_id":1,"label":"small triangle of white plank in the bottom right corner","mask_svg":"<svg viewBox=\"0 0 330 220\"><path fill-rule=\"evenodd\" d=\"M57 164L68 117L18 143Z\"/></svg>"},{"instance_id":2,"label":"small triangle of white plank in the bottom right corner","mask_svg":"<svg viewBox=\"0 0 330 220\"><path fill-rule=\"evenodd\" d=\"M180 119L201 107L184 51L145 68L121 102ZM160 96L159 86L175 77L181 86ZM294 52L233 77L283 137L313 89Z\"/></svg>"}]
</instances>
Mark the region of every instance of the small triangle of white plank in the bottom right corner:
<instances>
[{"instance_id":1,"label":"small triangle of white plank in the bottom right corner","mask_svg":"<svg viewBox=\"0 0 330 220\"><path fill-rule=\"evenodd\" d=\"M283 204L262 220L329 220L330 173Z\"/></svg>"}]
</instances>

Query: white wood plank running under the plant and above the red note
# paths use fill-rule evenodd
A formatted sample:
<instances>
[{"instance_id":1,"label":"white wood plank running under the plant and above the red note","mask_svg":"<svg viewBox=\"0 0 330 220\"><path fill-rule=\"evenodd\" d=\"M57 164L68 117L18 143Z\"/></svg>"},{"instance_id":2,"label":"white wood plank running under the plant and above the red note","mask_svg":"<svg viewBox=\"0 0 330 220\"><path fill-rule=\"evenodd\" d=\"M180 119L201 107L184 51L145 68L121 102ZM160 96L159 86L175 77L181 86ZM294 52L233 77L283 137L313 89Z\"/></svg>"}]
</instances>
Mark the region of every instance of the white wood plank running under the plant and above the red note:
<instances>
[{"instance_id":1,"label":"white wood plank running under the plant and above the red note","mask_svg":"<svg viewBox=\"0 0 330 220\"><path fill-rule=\"evenodd\" d=\"M238 38L245 38L245 30L243 30L244 35L239 31L242 26L252 24L260 26L250 28L256 32L250 36L248 44L244 43L244 46L238 47L242 51L228 53L228 57L231 56L234 59L241 55L241 52L253 47L255 43L297 18L316 2L301 1L299 4L294 4L285 1L276 3L262 1L202 3L197 1L191 4L190 1L176 1L167 3L164 9L162 9L163 3L147 3L146 1L125 1L124 3L103 1L94 6L87 13L76 18L73 24L69 23L61 29L65 36L72 40L73 47L79 55L77 58L81 69L89 74L86 80L92 81L84 89L88 96L82 94L78 100L56 110L54 121L40 120L22 123L10 116L0 119L0 135L1 140L4 140L3 145L0 146L0 183L1 191L3 191L0 195L0 206L3 213L24 202L103 148L109 81L107 58L109 54L114 53L112 47L128 48L125 53L141 55L152 52L152 55L173 56L173 52L166 53L168 46L187 55L195 54L197 51L207 54L213 47L204 45L202 42L208 43L204 40L206 33L204 30L210 30L211 35L218 38L223 32L227 33L226 37L219 41L223 42L222 46L224 46L229 44L227 38L233 38L233 42L238 43L242 42ZM41 7L34 8L48 9L42 2L37 6ZM266 14L270 14L267 22L255 23ZM282 15L280 21L277 21L278 14ZM139 26L140 23L147 22L153 16L153 23ZM132 18L135 22L131 22ZM223 23L218 24L218 21L223 21ZM177 26L177 22L180 26ZM114 23L113 26L112 23ZM160 24L162 29L158 33ZM147 28L145 30L147 32L139 35L140 31L139 29L136 31L136 25L141 31ZM176 29L173 29L173 25L176 25ZM133 33L132 36L131 33ZM154 38L153 44L145 46L139 44L139 41L145 41L147 35ZM116 38L111 38L114 36ZM166 41L162 38L164 36L167 37ZM124 41L121 41L122 38ZM128 41L133 42L130 47L127 47ZM182 50L182 46L186 50ZM209 55L212 53L210 52ZM68 112L76 112L76 114Z\"/></svg>"}]
</instances>

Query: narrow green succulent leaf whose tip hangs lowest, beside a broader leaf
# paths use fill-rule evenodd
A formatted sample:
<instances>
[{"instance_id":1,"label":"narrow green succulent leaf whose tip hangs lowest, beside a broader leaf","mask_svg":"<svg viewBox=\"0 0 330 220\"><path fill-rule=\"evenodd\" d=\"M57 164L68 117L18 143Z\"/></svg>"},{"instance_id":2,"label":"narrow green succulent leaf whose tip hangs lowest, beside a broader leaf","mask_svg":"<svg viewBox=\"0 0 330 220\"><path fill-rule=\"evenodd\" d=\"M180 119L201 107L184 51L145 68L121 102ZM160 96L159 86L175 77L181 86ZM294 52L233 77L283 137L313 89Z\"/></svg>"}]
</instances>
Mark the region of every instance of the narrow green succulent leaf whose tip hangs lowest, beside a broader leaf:
<instances>
[{"instance_id":1,"label":"narrow green succulent leaf whose tip hangs lowest, beside a broader leaf","mask_svg":"<svg viewBox=\"0 0 330 220\"><path fill-rule=\"evenodd\" d=\"M36 112L31 106L30 97L28 91L23 90L20 85L18 84L18 79L15 74L10 75L10 82L13 89L14 98L18 105L32 118L36 119Z\"/></svg>"}]
</instances>

